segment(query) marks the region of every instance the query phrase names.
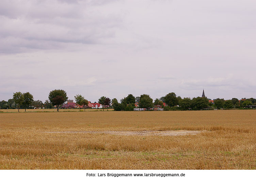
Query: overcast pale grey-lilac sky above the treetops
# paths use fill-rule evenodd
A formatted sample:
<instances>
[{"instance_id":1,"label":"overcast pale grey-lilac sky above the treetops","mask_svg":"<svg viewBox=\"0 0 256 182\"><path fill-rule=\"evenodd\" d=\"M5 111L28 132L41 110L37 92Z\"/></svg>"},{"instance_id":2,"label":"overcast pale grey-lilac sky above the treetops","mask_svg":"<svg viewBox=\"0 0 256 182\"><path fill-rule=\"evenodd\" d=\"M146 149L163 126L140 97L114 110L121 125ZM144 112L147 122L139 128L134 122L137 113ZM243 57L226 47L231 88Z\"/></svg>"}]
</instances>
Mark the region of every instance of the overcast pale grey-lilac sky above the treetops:
<instances>
[{"instance_id":1,"label":"overcast pale grey-lilac sky above the treetops","mask_svg":"<svg viewBox=\"0 0 256 182\"><path fill-rule=\"evenodd\" d=\"M256 98L255 0L1 0L0 24L0 100Z\"/></svg>"}]
</instances>

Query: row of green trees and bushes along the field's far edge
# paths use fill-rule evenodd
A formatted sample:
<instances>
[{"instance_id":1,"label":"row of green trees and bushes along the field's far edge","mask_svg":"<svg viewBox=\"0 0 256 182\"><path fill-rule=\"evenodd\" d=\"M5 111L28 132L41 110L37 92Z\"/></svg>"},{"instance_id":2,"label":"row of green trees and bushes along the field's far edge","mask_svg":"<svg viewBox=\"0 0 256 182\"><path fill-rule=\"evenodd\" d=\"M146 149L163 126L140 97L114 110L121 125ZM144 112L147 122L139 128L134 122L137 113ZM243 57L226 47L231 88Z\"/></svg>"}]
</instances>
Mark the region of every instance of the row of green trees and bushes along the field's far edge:
<instances>
[{"instance_id":1,"label":"row of green trees and bushes along the field's far edge","mask_svg":"<svg viewBox=\"0 0 256 182\"><path fill-rule=\"evenodd\" d=\"M75 97L76 103L79 105L79 110L82 106L84 109L89 104L88 100L85 99L82 95L77 94ZM44 106L47 109L53 108L53 106L57 106L57 111L59 111L60 105L64 104L68 97L65 90L55 89L49 93L49 100L46 100L43 103L40 100L34 100L33 95L29 92L21 93L16 92L13 94L13 98L8 101L0 102L0 109L26 109L30 106L42 107ZM242 98L238 100L237 98L232 98L230 100L224 99L214 99L213 102L209 102L210 99L207 97L194 97L194 98L181 98L180 96L176 96L175 93L169 93L161 98L151 99L151 97L147 94L142 94L141 96L134 97L132 94L129 94L127 97L124 97L117 101L116 98L110 100L109 98L102 96L99 98L98 102L103 106L110 105L112 103L112 107L115 111L133 111L135 108L135 104L138 103L138 107L140 108L149 108L149 107L161 107L165 111L170 110L202 110L202 109L239 109L243 108L246 105L256 105L256 99L250 98ZM165 103L165 105L164 105ZM107 107L108 109L108 107Z\"/></svg>"}]
</instances>

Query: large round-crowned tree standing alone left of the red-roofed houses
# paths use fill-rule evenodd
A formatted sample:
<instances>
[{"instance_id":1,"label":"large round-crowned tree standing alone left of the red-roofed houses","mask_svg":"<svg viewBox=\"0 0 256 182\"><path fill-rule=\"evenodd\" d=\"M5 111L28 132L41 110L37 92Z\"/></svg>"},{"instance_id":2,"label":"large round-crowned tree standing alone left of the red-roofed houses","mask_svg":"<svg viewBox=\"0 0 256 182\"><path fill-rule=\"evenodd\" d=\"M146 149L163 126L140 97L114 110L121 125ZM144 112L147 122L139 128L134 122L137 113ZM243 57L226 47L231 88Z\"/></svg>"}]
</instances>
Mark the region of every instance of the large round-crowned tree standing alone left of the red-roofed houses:
<instances>
[{"instance_id":1,"label":"large round-crowned tree standing alone left of the red-roofed houses","mask_svg":"<svg viewBox=\"0 0 256 182\"><path fill-rule=\"evenodd\" d=\"M52 90L49 93L49 101L52 105L57 105L57 112L59 112L59 105L67 101L67 93L64 90Z\"/></svg>"}]
</instances>

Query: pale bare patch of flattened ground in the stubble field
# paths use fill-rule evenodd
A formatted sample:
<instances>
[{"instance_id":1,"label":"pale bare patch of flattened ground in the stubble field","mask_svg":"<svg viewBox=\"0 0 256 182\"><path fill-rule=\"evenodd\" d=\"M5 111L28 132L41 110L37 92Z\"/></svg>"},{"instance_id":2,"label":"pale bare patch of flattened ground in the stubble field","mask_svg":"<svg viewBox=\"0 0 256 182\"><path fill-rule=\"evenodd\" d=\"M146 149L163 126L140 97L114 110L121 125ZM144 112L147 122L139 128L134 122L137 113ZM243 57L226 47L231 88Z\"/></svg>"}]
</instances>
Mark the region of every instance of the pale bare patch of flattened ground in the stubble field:
<instances>
[{"instance_id":1,"label":"pale bare patch of flattened ground in the stubble field","mask_svg":"<svg viewBox=\"0 0 256 182\"><path fill-rule=\"evenodd\" d=\"M101 133L113 135L159 135L159 136L177 136L177 135L195 135L204 131L189 131L189 130L170 130L170 131L57 131L45 133Z\"/></svg>"}]
</instances>

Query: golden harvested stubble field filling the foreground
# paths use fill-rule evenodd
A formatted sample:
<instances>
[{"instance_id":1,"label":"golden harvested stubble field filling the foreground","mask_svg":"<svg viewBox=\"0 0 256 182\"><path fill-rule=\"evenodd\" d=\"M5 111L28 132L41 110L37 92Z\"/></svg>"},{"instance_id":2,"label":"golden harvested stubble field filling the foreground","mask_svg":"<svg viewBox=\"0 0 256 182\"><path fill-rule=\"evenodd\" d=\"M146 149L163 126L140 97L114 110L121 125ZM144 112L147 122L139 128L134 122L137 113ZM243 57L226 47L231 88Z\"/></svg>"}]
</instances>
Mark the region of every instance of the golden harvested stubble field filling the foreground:
<instances>
[{"instance_id":1,"label":"golden harvested stubble field filling the foreground","mask_svg":"<svg viewBox=\"0 0 256 182\"><path fill-rule=\"evenodd\" d=\"M0 169L256 169L256 111L0 113Z\"/></svg>"}]
</instances>

